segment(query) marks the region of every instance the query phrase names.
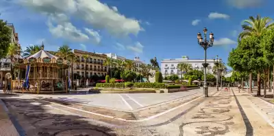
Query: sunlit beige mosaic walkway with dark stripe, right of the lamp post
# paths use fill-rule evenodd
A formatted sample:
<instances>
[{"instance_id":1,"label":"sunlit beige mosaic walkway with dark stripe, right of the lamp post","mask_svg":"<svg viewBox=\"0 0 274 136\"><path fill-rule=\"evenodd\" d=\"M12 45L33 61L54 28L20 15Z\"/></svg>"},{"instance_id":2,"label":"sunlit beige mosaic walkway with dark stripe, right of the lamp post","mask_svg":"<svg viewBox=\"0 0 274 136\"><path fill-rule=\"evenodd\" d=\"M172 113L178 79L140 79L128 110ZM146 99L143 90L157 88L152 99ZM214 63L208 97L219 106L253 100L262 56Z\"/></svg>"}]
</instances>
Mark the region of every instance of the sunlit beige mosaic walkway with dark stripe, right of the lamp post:
<instances>
[{"instance_id":1,"label":"sunlit beige mosaic walkway with dark stripe, right of the lamp post","mask_svg":"<svg viewBox=\"0 0 274 136\"><path fill-rule=\"evenodd\" d=\"M253 109L249 98L251 95L244 91L238 93L235 88L229 92L219 91L186 113L184 120L176 121L180 124L179 135L273 134L274 128Z\"/></svg>"}]
</instances>

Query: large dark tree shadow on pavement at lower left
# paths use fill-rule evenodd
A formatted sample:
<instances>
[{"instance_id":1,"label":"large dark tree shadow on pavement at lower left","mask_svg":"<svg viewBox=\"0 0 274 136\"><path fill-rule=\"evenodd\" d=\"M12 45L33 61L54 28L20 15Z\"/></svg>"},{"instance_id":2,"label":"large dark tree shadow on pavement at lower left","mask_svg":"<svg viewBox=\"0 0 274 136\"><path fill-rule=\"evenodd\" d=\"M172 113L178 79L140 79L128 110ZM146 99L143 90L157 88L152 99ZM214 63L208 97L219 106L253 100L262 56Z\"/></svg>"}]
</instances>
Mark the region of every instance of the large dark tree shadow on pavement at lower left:
<instances>
[{"instance_id":1,"label":"large dark tree shadow on pavement at lower left","mask_svg":"<svg viewBox=\"0 0 274 136\"><path fill-rule=\"evenodd\" d=\"M21 135L116 135L112 128L95 124L86 117L55 109L49 102L10 98L12 96L16 95L0 94L12 117L18 122L17 131L25 131Z\"/></svg>"}]
</instances>

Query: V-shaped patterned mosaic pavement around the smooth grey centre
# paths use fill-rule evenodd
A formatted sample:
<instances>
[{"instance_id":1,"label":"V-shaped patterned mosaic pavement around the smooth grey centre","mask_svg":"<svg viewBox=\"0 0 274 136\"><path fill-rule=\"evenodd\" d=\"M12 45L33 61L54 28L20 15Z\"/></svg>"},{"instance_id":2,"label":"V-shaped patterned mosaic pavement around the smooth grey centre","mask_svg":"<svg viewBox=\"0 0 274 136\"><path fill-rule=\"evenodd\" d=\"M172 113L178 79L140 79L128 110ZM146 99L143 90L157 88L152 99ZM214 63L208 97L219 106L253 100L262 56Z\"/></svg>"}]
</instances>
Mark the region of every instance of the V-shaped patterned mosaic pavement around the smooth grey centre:
<instances>
[{"instance_id":1,"label":"V-shaped patterned mosaic pavement around the smooth grey centre","mask_svg":"<svg viewBox=\"0 0 274 136\"><path fill-rule=\"evenodd\" d=\"M267 105L256 104L259 98L252 99L250 95L232 90L214 91L210 98L188 100L187 103L182 101L181 104L180 101L172 102L158 108L147 109L149 115L141 112L132 113L131 117L134 117L135 121L130 122L128 120L132 120L131 118L122 121L101 117L66 109L64 106L35 98L3 98L3 102L17 118L27 135L264 136L274 133L274 129L251 107L252 104L260 107ZM173 107L176 109L153 117ZM88 107L81 109L88 110ZM108 115L112 115L109 113L111 111L107 112ZM121 114L119 112L113 115ZM268 109L268 113L272 111Z\"/></svg>"}]
</instances>

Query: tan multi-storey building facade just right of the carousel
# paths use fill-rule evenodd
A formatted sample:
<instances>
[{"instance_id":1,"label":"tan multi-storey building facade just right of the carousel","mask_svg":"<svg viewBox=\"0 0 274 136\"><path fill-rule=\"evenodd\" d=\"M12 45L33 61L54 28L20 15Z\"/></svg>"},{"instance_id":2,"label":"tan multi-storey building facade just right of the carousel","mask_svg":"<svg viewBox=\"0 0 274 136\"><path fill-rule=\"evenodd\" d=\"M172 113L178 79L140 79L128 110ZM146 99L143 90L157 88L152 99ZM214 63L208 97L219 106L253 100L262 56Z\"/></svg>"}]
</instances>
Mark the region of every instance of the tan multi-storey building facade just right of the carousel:
<instances>
[{"instance_id":1,"label":"tan multi-storey building facade just right of the carousel","mask_svg":"<svg viewBox=\"0 0 274 136\"><path fill-rule=\"evenodd\" d=\"M107 67L103 66L103 62L107 58L105 54L96 54L77 49L73 49L73 53L77 56L77 62L73 64L73 73L77 73L79 76L84 77L86 68L86 76L88 78L92 75L105 76L107 74ZM89 56L87 62L83 58L84 55Z\"/></svg>"}]
</instances>

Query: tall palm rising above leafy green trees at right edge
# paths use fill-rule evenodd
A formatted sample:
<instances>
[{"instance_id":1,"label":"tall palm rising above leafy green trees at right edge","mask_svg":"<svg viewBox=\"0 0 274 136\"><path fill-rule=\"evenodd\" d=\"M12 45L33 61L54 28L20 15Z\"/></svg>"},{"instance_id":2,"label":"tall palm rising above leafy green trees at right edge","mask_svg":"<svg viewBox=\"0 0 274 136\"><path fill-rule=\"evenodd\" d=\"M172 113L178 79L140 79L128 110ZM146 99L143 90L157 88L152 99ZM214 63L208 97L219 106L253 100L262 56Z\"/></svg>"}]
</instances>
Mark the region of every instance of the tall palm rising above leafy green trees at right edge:
<instances>
[{"instance_id":1,"label":"tall palm rising above leafy green trees at right edge","mask_svg":"<svg viewBox=\"0 0 274 136\"><path fill-rule=\"evenodd\" d=\"M245 38L247 36L256 35L260 37L263 32L266 30L269 30L274 27L274 23L271 22L272 19L269 17L261 17L260 15L257 15L256 18L253 16L249 16L249 20L243 21L242 29L243 31L240 32L238 36L238 41L240 41L241 38ZM274 66L273 66L274 70ZM274 82L274 78L273 78ZM249 72L249 84L252 84L252 73ZM249 85L249 90L252 92L252 86ZM258 72L258 91L257 95L260 93L260 72ZM260 95L260 94L259 94Z\"/></svg>"}]
</instances>

